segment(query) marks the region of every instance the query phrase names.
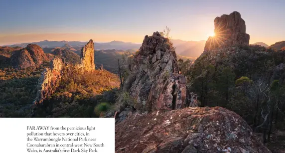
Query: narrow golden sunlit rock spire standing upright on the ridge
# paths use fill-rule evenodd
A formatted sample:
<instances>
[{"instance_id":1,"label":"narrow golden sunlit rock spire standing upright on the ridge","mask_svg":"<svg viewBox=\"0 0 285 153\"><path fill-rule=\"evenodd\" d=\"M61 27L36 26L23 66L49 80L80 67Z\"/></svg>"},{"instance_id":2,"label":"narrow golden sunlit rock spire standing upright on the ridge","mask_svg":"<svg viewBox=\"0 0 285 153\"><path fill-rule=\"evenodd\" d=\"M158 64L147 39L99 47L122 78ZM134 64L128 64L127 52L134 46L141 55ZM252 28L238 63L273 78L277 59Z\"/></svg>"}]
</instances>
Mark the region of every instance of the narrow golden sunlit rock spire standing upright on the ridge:
<instances>
[{"instance_id":1,"label":"narrow golden sunlit rock spire standing upright on the ridge","mask_svg":"<svg viewBox=\"0 0 285 153\"><path fill-rule=\"evenodd\" d=\"M87 71L95 70L94 58L94 43L93 40L90 39L81 49L80 64L78 66Z\"/></svg>"}]
</instances>

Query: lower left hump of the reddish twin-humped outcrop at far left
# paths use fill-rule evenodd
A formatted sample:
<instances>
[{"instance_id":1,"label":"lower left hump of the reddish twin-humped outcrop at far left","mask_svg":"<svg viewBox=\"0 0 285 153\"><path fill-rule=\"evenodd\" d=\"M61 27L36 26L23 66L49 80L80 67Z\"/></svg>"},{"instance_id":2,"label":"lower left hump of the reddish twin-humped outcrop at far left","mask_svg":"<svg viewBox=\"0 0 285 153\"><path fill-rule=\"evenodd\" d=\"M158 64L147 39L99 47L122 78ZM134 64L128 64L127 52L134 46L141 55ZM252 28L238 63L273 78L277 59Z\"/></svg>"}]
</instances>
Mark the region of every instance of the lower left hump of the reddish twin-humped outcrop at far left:
<instances>
[{"instance_id":1,"label":"lower left hump of the reddish twin-humped outcrop at far left","mask_svg":"<svg viewBox=\"0 0 285 153\"><path fill-rule=\"evenodd\" d=\"M10 63L15 68L19 68L19 69L25 69L28 67L36 67L36 64L34 63L27 49L14 51L10 58Z\"/></svg>"}]
</instances>

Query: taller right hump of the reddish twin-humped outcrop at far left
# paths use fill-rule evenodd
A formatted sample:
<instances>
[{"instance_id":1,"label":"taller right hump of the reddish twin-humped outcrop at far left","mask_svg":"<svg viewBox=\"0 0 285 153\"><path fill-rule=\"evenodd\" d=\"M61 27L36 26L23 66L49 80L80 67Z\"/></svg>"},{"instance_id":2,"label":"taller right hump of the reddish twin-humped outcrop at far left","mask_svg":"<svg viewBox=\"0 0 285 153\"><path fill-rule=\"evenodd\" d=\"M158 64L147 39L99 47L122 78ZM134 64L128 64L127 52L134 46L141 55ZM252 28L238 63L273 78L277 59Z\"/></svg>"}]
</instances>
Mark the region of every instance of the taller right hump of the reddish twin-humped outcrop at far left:
<instances>
[{"instance_id":1,"label":"taller right hump of the reddish twin-humped outcrop at far left","mask_svg":"<svg viewBox=\"0 0 285 153\"><path fill-rule=\"evenodd\" d=\"M28 44L26 47L27 51L31 55L35 64L41 64L43 61L47 61L48 58L43 52L42 48L36 44Z\"/></svg>"}]
</instances>

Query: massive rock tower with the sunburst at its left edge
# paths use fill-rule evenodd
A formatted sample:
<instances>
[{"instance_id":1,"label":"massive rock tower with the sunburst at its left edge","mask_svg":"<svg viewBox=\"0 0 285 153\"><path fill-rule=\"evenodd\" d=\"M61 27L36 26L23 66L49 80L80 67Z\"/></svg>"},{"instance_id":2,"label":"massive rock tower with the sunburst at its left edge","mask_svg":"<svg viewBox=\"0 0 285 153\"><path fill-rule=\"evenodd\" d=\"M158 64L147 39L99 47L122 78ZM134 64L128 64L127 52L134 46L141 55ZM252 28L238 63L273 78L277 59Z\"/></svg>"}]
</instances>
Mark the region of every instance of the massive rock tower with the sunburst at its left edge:
<instances>
[{"instance_id":1,"label":"massive rock tower with the sunburst at its left edge","mask_svg":"<svg viewBox=\"0 0 285 153\"><path fill-rule=\"evenodd\" d=\"M208 38L205 50L213 50L218 47L235 44L249 44L250 35L246 33L246 24L239 12L234 11L229 15L223 14L220 17L216 17L214 24L215 36Z\"/></svg>"}]
</instances>

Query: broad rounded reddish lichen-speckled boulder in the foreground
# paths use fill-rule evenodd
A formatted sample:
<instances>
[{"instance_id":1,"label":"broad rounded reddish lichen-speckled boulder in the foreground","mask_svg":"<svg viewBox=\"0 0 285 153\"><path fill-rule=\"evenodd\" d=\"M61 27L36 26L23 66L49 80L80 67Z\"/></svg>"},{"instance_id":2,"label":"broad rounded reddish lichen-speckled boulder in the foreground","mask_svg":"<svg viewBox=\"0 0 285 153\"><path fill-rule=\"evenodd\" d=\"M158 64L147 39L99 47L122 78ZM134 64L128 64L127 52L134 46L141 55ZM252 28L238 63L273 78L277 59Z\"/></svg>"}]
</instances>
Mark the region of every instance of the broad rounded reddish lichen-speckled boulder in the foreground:
<instances>
[{"instance_id":1,"label":"broad rounded reddish lichen-speckled boulder in the foreground","mask_svg":"<svg viewBox=\"0 0 285 153\"><path fill-rule=\"evenodd\" d=\"M115 129L116 153L271 153L239 115L220 107L136 114Z\"/></svg>"}]
</instances>

